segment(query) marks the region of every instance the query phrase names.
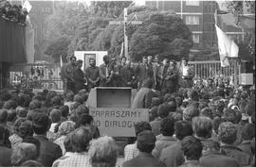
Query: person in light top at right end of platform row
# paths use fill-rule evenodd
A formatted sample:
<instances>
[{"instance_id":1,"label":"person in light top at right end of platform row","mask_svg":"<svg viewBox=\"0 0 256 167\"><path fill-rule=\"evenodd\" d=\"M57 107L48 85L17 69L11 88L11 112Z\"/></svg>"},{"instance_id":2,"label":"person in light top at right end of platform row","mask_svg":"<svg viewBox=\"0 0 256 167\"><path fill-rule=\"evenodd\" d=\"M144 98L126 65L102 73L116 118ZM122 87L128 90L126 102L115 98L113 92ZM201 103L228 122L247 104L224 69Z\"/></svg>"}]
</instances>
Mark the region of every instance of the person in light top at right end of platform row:
<instances>
[{"instance_id":1,"label":"person in light top at right end of platform row","mask_svg":"<svg viewBox=\"0 0 256 167\"><path fill-rule=\"evenodd\" d=\"M180 75L179 85L182 88L192 88L194 72L192 67L189 66L187 58L182 58L181 60Z\"/></svg>"}]
</instances>

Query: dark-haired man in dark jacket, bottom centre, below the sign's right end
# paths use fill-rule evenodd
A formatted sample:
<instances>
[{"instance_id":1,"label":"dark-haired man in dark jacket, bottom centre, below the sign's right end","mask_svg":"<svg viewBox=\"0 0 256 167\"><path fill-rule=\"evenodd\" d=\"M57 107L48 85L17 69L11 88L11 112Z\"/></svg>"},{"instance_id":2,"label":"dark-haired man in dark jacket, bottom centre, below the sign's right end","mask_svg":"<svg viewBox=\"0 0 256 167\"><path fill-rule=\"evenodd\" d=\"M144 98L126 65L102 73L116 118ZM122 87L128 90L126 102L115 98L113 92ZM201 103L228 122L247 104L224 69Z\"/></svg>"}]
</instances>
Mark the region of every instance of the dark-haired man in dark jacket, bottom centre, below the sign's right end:
<instances>
[{"instance_id":1,"label":"dark-haired man in dark jacket, bottom centre, below the sign's right end","mask_svg":"<svg viewBox=\"0 0 256 167\"><path fill-rule=\"evenodd\" d=\"M145 130L137 135L138 156L135 159L125 161L123 167L165 167L166 165L155 159L151 152L155 147L155 135L150 130Z\"/></svg>"}]
</instances>

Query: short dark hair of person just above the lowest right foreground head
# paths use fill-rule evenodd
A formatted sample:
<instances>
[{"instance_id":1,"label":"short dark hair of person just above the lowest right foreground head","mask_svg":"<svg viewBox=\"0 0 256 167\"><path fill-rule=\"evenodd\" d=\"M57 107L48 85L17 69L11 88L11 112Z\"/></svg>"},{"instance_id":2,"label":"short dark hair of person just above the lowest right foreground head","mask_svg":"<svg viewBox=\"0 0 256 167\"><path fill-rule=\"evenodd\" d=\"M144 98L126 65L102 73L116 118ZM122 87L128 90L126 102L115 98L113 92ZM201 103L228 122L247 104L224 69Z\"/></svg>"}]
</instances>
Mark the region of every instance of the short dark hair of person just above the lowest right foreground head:
<instances>
[{"instance_id":1,"label":"short dark hair of person just above the lowest right foreground head","mask_svg":"<svg viewBox=\"0 0 256 167\"><path fill-rule=\"evenodd\" d=\"M177 121L174 125L175 136L182 141L186 136L192 136L192 125L187 121Z\"/></svg>"}]
</instances>

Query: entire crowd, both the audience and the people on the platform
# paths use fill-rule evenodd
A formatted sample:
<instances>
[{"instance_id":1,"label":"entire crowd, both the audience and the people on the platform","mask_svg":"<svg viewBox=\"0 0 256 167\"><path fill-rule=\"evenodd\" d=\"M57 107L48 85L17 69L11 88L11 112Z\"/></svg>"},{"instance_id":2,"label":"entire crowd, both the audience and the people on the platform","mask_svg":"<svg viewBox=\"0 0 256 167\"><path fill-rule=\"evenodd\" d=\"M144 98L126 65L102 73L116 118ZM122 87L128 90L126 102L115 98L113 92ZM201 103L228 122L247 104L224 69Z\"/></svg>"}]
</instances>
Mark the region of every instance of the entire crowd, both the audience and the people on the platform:
<instances>
[{"instance_id":1,"label":"entire crowd, both the audience and the people on the platform","mask_svg":"<svg viewBox=\"0 0 256 167\"><path fill-rule=\"evenodd\" d=\"M64 94L0 92L0 166L115 167L119 151L122 167L254 166L254 90L212 78L193 84L186 59L180 68L168 59L155 68L151 58L135 67L137 75L124 71L126 58L116 65L104 57L100 67L92 58L83 75L82 61L72 57L62 69ZM136 137L120 149L101 136L86 101L91 88L123 85L137 88L132 108L149 109L150 118L133 125Z\"/></svg>"}]
</instances>

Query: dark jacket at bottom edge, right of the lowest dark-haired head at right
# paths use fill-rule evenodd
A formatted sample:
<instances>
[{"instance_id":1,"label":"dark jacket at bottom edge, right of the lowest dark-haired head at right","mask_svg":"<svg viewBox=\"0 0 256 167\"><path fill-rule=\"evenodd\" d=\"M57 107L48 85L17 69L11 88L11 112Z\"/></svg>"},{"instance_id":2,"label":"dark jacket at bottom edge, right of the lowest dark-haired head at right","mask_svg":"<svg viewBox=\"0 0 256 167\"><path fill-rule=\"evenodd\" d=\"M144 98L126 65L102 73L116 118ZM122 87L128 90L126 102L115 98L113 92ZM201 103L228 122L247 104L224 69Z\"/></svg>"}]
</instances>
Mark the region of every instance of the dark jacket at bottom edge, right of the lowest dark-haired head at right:
<instances>
[{"instance_id":1,"label":"dark jacket at bottom edge, right of the lowest dark-haired head at right","mask_svg":"<svg viewBox=\"0 0 256 167\"><path fill-rule=\"evenodd\" d=\"M214 150L205 152L200 163L207 167L239 167L239 163L235 159Z\"/></svg>"}]
</instances>

